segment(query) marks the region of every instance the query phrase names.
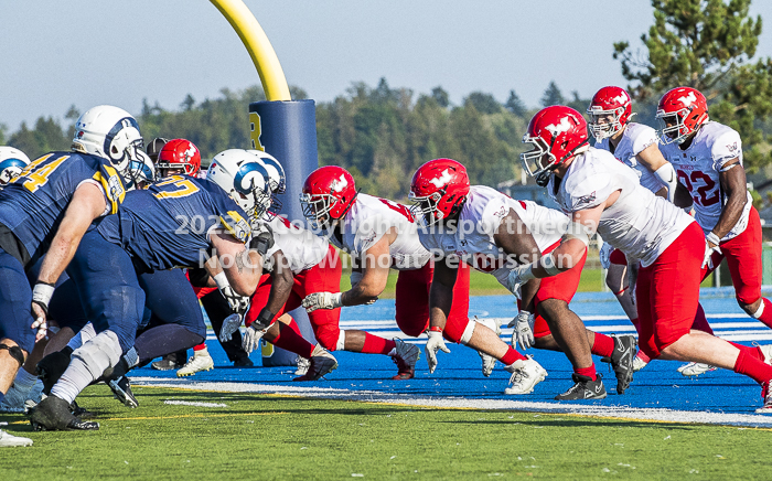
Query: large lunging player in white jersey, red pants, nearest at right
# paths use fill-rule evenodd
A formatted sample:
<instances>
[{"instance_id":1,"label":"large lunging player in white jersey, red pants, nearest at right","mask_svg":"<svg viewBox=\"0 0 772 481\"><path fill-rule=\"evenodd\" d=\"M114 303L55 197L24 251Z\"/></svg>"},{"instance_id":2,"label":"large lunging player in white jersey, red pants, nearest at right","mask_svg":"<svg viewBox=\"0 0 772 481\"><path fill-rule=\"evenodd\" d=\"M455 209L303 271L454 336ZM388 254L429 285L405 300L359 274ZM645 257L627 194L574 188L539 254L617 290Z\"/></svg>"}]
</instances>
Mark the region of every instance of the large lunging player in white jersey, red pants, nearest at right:
<instances>
[{"instance_id":1,"label":"large lunging player in white jersey, red pants, nearest at right","mask_svg":"<svg viewBox=\"0 0 772 481\"><path fill-rule=\"evenodd\" d=\"M524 282L560 276L581 263L596 232L628 259L640 260L635 296L640 345L651 359L708 363L744 374L763 386L764 405L772 413L766 364L770 346L748 348L693 330L699 301L703 229L695 220L642 186L637 175L611 153L589 147L587 122L570 107L538 111L523 137L533 150L521 156L527 172L546 184L560 207L570 214L560 245L535 263L512 270L511 290ZM591 380L579 378L580 388Z\"/></svg>"}]
</instances>

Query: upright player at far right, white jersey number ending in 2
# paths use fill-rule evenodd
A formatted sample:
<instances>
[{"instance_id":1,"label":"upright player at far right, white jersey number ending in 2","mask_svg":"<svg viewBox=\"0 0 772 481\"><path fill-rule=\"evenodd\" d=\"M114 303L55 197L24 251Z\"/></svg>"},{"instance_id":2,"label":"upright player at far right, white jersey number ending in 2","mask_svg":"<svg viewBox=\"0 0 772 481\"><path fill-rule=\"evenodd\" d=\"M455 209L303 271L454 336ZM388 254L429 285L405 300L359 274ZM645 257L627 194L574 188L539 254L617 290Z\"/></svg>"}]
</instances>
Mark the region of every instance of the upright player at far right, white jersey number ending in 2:
<instances>
[{"instance_id":1,"label":"upright player at far right, white jersey number ending in 2","mask_svg":"<svg viewBox=\"0 0 772 481\"><path fill-rule=\"evenodd\" d=\"M656 117L662 153L678 173L675 202L694 207L706 236L704 277L726 257L738 304L772 327L772 304L761 297L761 221L748 192L740 135L711 121L705 96L690 87L663 95ZM698 363L679 371L697 375L714 368Z\"/></svg>"}]
</instances>

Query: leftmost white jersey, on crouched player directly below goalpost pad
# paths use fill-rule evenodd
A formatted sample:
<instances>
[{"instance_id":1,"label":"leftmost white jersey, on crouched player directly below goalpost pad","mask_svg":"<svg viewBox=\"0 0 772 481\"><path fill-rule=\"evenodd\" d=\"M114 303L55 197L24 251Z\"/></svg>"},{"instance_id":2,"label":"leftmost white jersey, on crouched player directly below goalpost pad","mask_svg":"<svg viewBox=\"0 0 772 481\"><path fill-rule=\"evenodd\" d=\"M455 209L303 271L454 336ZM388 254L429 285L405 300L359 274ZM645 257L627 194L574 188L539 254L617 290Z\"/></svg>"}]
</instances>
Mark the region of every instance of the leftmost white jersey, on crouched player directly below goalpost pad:
<instances>
[{"instance_id":1,"label":"leftmost white jersey, on crouched player directly below goalpost pad","mask_svg":"<svg viewBox=\"0 0 772 481\"><path fill-rule=\"evenodd\" d=\"M314 235L311 231L291 224L279 215L270 215L268 225L274 229L274 246L268 249L266 258L281 250L293 274L310 269L328 255L330 243L324 237ZM266 263L266 270L272 270L271 263Z\"/></svg>"}]
</instances>

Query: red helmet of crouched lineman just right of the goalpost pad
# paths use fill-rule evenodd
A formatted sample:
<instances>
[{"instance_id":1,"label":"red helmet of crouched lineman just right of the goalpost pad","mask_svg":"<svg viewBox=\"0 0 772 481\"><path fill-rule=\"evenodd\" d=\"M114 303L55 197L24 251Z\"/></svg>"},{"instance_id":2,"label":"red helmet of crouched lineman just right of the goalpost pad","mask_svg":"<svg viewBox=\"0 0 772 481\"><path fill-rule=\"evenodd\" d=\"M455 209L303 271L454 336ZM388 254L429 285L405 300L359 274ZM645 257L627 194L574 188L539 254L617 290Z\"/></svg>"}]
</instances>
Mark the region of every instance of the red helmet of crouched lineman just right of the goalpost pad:
<instances>
[{"instance_id":1,"label":"red helmet of crouched lineman just right of the goalpost pad","mask_svg":"<svg viewBox=\"0 0 772 481\"><path fill-rule=\"evenodd\" d=\"M346 215L356 197L354 178L347 170L326 165L311 172L303 183L300 204L312 228L322 228Z\"/></svg>"}]
</instances>

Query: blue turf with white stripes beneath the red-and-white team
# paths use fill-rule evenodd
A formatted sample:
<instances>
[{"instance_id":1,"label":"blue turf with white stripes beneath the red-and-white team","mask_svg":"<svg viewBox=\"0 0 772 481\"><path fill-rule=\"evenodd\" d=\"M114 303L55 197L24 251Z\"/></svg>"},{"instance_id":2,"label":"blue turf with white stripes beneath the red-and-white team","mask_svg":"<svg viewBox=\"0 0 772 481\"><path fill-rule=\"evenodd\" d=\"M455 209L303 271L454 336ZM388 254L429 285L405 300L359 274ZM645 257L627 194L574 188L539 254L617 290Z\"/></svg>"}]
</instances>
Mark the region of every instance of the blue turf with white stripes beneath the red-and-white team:
<instances>
[{"instance_id":1,"label":"blue turf with white stripes beneath the red-and-white team","mask_svg":"<svg viewBox=\"0 0 772 481\"><path fill-rule=\"evenodd\" d=\"M747 317L737 306L731 289L706 289L701 297L703 306L714 330L726 339L750 344L772 342L772 330ZM585 320L588 328L604 333L633 333L632 324L624 317L615 299L608 293L578 293L571 303L572 309ZM470 316L481 318L504 318L504 327L516 314L513 298L510 296L475 297L470 300ZM394 300L379 300L374 306L346 308L341 324L352 329L361 328L383 336L399 333L394 322ZM502 336L508 342L511 330ZM417 340L419 343L425 339ZM216 368L199 373L191 381L242 382L275 385L297 385L290 367L234 368L210 332L210 353ZM476 352L461 346L449 345L451 354L439 353L439 367L430 375L423 353L418 363L416 378L392 381L396 367L386 356L336 352L340 367L326 380L303 383L304 386L333 387L355 391L384 391L420 396L453 396L467 398L507 398L504 388L508 373L497 364L489 378L481 373L480 356ZM533 351L528 354L549 372L546 381L536 386L533 394L517 396L517 400L553 402L553 397L571 385L571 368L561 353ZM260 364L259 353L253 353L253 361ZM615 395L615 378L608 366L597 359L597 366L608 382L609 397L591 402L599 406L630 406L671 408L678 410L704 410L714 413L752 414L761 405L760 388L744 376L715 371L699 378L687 378L676 372L680 363L655 361L636 373L633 384L625 395ZM158 372L144 367L133 372L136 376L174 377L174 371ZM588 403L590 404L590 403Z\"/></svg>"}]
</instances>

